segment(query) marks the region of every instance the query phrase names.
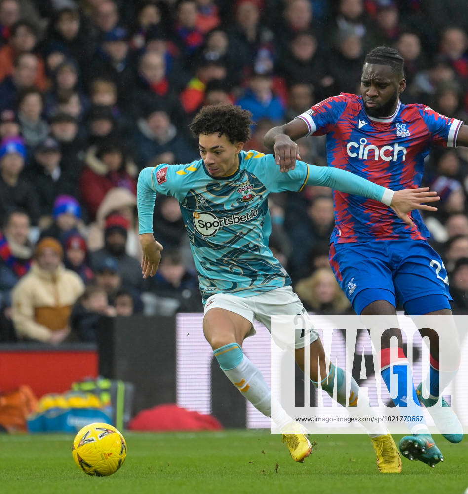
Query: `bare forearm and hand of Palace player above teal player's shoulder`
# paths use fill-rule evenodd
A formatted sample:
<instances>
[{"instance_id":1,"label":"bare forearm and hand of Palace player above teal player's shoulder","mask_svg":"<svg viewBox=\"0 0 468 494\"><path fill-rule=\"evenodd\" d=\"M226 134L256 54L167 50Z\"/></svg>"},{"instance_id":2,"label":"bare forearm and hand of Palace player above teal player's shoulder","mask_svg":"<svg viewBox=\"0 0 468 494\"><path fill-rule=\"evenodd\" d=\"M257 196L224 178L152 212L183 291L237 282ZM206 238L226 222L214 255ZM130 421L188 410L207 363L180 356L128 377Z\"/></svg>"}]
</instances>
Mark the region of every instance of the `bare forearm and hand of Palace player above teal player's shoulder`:
<instances>
[{"instance_id":1,"label":"bare forearm and hand of Palace player above teal player's shoulder","mask_svg":"<svg viewBox=\"0 0 468 494\"><path fill-rule=\"evenodd\" d=\"M294 119L287 124L270 129L263 139L267 149L273 151L276 164L282 172L294 170L296 159L300 160L298 146L294 142L308 134L306 123L301 119Z\"/></svg>"}]
</instances>

